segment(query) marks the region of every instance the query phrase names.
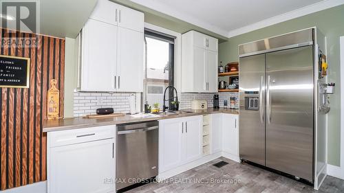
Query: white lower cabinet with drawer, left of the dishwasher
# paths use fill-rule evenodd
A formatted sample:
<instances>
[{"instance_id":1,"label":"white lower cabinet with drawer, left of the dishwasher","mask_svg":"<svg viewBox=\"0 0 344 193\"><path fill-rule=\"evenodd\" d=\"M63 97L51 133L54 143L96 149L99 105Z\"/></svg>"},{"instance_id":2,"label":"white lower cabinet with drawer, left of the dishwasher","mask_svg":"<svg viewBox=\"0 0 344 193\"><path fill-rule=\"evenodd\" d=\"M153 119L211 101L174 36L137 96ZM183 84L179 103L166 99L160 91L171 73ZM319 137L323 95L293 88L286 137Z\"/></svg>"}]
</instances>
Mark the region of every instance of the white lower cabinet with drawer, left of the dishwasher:
<instances>
[{"instance_id":1,"label":"white lower cabinet with drawer, left of the dishwasher","mask_svg":"<svg viewBox=\"0 0 344 193\"><path fill-rule=\"evenodd\" d=\"M48 133L47 192L115 192L114 130L100 126Z\"/></svg>"}]
</instances>

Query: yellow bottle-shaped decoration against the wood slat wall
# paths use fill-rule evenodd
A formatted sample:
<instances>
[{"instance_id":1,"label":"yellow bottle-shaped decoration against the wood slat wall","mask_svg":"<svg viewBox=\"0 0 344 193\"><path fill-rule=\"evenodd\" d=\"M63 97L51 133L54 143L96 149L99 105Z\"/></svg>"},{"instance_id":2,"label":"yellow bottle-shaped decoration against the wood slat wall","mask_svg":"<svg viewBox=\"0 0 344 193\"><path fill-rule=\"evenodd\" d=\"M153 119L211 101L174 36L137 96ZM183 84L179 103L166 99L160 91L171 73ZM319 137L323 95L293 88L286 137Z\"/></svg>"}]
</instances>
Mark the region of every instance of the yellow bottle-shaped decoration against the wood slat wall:
<instances>
[{"instance_id":1,"label":"yellow bottle-shaped decoration against the wood slat wall","mask_svg":"<svg viewBox=\"0 0 344 193\"><path fill-rule=\"evenodd\" d=\"M50 89L47 91L47 119L56 120L60 112L60 91L56 88L56 79L50 80Z\"/></svg>"}]
</instances>

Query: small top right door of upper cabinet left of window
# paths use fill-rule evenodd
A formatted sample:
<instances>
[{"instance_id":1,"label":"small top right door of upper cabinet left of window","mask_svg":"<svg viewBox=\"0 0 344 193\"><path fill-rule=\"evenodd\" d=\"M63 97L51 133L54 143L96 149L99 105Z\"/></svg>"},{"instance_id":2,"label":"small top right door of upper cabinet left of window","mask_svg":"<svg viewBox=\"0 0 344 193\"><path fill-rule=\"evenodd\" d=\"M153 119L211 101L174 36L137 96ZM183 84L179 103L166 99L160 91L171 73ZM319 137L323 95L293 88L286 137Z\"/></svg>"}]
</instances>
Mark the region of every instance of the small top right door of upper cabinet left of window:
<instances>
[{"instance_id":1,"label":"small top right door of upper cabinet left of window","mask_svg":"<svg viewBox=\"0 0 344 193\"><path fill-rule=\"evenodd\" d=\"M142 21L142 22L138 22ZM122 5L118 5L118 26L138 32L144 32L144 14Z\"/></svg>"}]
</instances>

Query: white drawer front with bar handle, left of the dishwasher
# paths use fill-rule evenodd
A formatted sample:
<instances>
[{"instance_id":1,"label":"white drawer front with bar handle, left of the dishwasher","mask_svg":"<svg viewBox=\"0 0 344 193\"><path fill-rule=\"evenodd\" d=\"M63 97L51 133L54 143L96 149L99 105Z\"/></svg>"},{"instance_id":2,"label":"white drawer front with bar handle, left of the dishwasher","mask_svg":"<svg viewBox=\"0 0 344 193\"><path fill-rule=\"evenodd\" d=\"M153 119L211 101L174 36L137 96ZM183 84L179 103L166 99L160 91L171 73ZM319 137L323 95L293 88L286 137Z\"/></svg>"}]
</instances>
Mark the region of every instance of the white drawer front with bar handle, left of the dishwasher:
<instances>
[{"instance_id":1,"label":"white drawer front with bar handle, left of the dishwasher","mask_svg":"<svg viewBox=\"0 0 344 193\"><path fill-rule=\"evenodd\" d=\"M48 133L50 147L79 144L115 137L115 126L98 126Z\"/></svg>"}]
</instances>

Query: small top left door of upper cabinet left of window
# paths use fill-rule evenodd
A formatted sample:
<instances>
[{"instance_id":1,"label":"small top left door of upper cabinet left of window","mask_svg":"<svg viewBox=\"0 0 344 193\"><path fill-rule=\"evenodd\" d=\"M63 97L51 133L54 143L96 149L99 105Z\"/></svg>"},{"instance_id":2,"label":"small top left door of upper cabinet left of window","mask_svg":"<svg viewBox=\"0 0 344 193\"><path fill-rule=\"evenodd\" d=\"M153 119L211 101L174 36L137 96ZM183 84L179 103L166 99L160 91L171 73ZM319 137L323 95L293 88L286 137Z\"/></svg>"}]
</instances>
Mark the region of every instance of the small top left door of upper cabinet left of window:
<instances>
[{"instance_id":1,"label":"small top left door of upper cabinet left of window","mask_svg":"<svg viewBox=\"0 0 344 193\"><path fill-rule=\"evenodd\" d=\"M90 19L117 25L118 5L109 0L98 0Z\"/></svg>"}]
</instances>

